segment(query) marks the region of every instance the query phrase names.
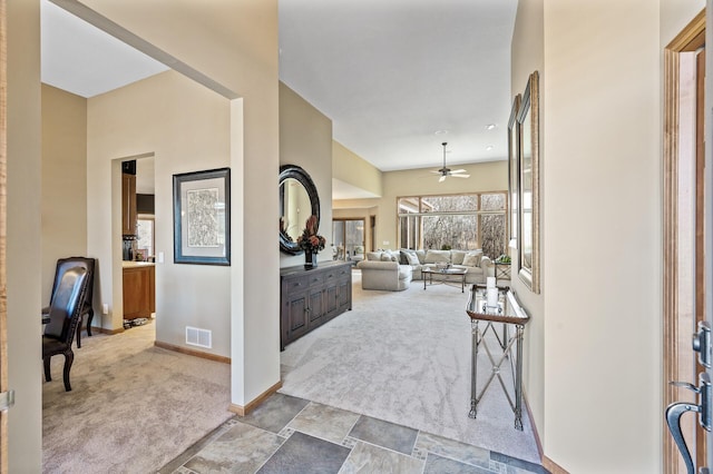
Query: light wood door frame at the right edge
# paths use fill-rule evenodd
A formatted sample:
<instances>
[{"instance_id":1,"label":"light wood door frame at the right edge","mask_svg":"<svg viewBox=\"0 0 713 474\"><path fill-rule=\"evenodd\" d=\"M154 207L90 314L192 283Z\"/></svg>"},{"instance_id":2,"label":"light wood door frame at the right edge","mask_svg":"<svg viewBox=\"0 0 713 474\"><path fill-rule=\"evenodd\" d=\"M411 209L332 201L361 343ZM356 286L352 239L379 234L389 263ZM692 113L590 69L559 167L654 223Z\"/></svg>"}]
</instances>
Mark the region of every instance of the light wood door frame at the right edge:
<instances>
[{"instance_id":1,"label":"light wood door frame at the right edge","mask_svg":"<svg viewBox=\"0 0 713 474\"><path fill-rule=\"evenodd\" d=\"M678 160L680 160L680 58L683 52L696 51L705 46L705 9L702 10L664 49L664 140L663 140L663 393L664 405L676 402L678 389L670 381L687 381L682 374L680 350L691 348L691 335L680 334L678 320ZM680 344L680 340L686 343ZM702 440L696 442L699 460L705 462ZM681 455L664 425L663 468L665 473L678 473ZM699 463L699 465L701 465Z\"/></svg>"}]
</instances>

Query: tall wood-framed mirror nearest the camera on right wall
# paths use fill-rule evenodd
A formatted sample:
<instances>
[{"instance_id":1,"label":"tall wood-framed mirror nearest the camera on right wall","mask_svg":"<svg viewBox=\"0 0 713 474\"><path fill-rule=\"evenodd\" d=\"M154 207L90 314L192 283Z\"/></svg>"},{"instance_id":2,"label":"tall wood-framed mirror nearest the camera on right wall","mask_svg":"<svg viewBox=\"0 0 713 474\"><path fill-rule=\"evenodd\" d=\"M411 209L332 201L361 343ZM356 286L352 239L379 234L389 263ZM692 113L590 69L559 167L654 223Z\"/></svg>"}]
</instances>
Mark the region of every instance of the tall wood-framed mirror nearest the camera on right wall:
<instances>
[{"instance_id":1,"label":"tall wood-framed mirror nearest the camera on right wall","mask_svg":"<svg viewBox=\"0 0 713 474\"><path fill-rule=\"evenodd\" d=\"M522 102L517 116L519 129L519 176L520 176L520 203L519 203L519 258L518 275L525 285L533 292L539 293L539 73L533 72L527 81ZM527 141L526 141L527 140ZM529 145L529 150L528 150ZM528 154L529 151L529 154ZM528 156L526 156L528 154ZM529 167L526 166L529 161ZM525 179L525 172L529 168L530 179ZM529 208L525 208L526 191L530 192ZM525 215L529 213L529 223ZM525 225L529 228L525 229ZM527 249L530 249L529 258L525 258ZM528 264L529 261L529 264Z\"/></svg>"}]
</instances>

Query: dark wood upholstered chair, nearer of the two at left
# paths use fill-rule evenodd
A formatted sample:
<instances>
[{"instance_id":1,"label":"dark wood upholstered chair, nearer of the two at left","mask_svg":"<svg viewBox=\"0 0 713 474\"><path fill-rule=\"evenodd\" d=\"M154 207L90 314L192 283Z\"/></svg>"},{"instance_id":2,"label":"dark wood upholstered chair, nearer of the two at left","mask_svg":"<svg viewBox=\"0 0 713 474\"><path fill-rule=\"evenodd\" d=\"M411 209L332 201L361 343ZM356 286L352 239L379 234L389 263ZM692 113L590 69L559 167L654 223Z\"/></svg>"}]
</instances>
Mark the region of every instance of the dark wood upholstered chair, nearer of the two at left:
<instances>
[{"instance_id":1,"label":"dark wood upholstered chair, nearer of the two at left","mask_svg":"<svg viewBox=\"0 0 713 474\"><path fill-rule=\"evenodd\" d=\"M50 374L50 361L53 355L65 356L64 379L65 389L71 391L69 384L69 371L75 361L71 350L71 342L81 320L81 312L87 297L89 273L82 267L68 268L57 284L52 303L49 306L49 323L45 326L42 335L42 363L45 365L45 379L52 379Z\"/></svg>"}]
</instances>

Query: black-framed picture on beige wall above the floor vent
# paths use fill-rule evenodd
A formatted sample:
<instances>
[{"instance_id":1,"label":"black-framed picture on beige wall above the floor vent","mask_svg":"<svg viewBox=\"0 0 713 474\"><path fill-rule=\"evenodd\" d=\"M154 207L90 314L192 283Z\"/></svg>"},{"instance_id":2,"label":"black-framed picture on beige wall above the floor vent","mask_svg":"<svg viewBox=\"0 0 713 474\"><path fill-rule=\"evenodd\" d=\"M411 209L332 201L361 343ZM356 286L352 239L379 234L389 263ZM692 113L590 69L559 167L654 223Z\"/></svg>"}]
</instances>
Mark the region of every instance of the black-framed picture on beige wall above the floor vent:
<instances>
[{"instance_id":1,"label":"black-framed picture on beige wall above the floor vent","mask_svg":"<svg viewBox=\"0 0 713 474\"><path fill-rule=\"evenodd\" d=\"M231 265L229 168L174 175L174 263Z\"/></svg>"}]
</instances>

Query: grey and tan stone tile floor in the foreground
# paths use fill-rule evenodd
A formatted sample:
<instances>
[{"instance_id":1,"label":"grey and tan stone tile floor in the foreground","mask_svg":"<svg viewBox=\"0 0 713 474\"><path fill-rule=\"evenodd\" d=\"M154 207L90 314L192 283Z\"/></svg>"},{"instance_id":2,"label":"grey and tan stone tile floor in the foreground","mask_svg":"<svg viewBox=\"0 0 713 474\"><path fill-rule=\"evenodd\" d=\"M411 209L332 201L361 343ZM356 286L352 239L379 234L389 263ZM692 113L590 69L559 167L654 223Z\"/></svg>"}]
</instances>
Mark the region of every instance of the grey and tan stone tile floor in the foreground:
<instances>
[{"instance_id":1,"label":"grey and tan stone tile floor in the foreground","mask_svg":"<svg viewBox=\"0 0 713 474\"><path fill-rule=\"evenodd\" d=\"M547 473L537 464L279 393L159 471L216 472Z\"/></svg>"}]
</instances>

